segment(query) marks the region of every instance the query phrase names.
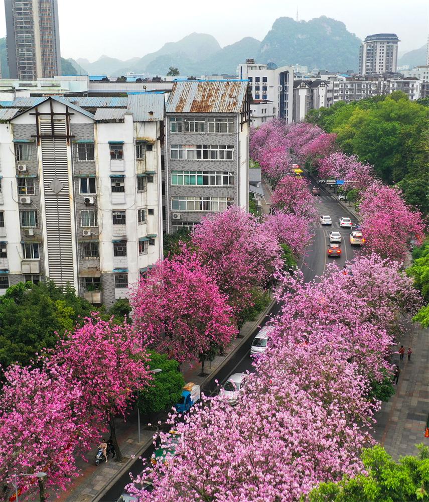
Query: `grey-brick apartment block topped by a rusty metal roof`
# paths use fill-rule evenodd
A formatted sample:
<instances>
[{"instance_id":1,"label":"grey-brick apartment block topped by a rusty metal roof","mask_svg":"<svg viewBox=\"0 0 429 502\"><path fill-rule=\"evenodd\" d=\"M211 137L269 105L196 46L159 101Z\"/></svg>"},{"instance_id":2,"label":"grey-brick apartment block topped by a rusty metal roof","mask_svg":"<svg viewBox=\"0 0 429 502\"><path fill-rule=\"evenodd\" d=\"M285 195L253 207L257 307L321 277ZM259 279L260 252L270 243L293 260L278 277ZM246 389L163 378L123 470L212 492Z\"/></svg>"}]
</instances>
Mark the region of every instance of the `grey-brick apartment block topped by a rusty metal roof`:
<instances>
[{"instance_id":1,"label":"grey-brick apartment block topped by a rusty metal roof","mask_svg":"<svg viewBox=\"0 0 429 502\"><path fill-rule=\"evenodd\" d=\"M202 215L248 208L247 80L175 82L166 104L166 231Z\"/></svg>"}]
</instances>

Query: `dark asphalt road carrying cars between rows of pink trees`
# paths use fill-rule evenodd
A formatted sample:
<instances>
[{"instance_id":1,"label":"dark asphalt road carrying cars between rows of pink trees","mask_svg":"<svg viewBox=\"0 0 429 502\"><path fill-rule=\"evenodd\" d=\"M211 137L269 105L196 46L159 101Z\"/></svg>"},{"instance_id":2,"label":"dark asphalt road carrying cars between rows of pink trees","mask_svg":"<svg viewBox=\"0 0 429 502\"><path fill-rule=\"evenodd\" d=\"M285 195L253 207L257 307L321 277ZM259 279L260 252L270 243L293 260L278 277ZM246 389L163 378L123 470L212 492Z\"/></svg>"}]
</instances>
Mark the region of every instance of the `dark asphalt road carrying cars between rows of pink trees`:
<instances>
[{"instance_id":1,"label":"dark asphalt road carrying cars between rows of pink trees","mask_svg":"<svg viewBox=\"0 0 429 502\"><path fill-rule=\"evenodd\" d=\"M313 184L313 186L315 185ZM320 223L316 223L313 226L314 237L312 243L307 249L307 256L300 264L306 281L311 281L317 276L321 276L324 273L326 264L329 263L329 261L335 261L340 267L342 267L347 260L351 260L354 257L352 246L348 240L351 230L348 228L340 228L339 219L341 216L348 216L351 218L352 222L356 224L356 218L338 202L336 197L333 195L333 192L327 187L322 186L321 192L320 196L315 196L318 200L319 214L329 214L332 218L332 226L322 226ZM328 233L331 230L338 230L343 236L343 242L341 243L342 256L340 258L327 257L327 247L329 244ZM276 315L279 312L280 307L281 306L276 303L261 323L261 326L268 322L272 316ZM250 336L246 342L243 343L229 362L205 384L202 391L206 395L217 392L218 385L215 380L224 384L233 373L242 373L247 370L251 372L253 370L249 353L253 337L257 332L258 329L256 329L254 333L252 333L252 336ZM154 447L151 445L142 454L142 458L149 459L153 451ZM142 471L142 468L142 460L137 458L128 472L131 472L133 476L136 476ZM124 487L130 482L128 472L123 474L100 500L103 502L115 502L124 492Z\"/></svg>"}]
</instances>

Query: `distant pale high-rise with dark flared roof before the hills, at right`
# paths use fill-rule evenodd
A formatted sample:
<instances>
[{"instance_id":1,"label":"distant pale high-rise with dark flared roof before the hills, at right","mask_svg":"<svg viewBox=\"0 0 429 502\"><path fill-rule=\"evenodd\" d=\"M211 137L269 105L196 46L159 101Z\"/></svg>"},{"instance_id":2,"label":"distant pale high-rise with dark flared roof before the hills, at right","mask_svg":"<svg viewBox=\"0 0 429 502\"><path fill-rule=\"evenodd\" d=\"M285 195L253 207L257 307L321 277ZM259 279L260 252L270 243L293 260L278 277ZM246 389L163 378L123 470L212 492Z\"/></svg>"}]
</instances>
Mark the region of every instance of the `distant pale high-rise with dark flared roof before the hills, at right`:
<instances>
[{"instance_id":1,"label":"distant pale high-rise with dark flared roof before the hills, at right","mask_svg":"<svg viewBox=\"0 0 429 502\"><path fill-rule=\"evenodd\" d=\"M394 33L368 35L359 49L359 74L396 72L398 42Z\"/></svg>"}]
</instances>

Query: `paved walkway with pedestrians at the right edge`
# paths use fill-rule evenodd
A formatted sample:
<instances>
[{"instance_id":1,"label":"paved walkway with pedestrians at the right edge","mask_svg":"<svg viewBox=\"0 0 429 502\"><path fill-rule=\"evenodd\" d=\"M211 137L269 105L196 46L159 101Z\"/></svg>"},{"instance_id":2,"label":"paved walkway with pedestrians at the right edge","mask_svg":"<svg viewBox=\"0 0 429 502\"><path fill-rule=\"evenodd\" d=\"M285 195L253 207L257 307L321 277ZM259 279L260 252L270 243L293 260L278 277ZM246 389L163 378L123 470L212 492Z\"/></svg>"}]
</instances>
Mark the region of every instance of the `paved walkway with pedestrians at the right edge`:
<instances>
[{"instance_id":1,"label":"paved walkway with pedestrians at the right edge","mask_svg":"<svg viewBox=\"0 0 429 502\"><path fill-rule=\"evenodd\" d=\"M375 415L374 439L394 459L415 455L415 444L429 446L429 438L424 437L429 413L429 329L415 326L397 348L400 345L405 347L404 360L399 361L399 354L394 354L392 360L401 369L396 393ZM413 351L410 361L406 355L408 347Z\"/></svg>"}]
</instances>

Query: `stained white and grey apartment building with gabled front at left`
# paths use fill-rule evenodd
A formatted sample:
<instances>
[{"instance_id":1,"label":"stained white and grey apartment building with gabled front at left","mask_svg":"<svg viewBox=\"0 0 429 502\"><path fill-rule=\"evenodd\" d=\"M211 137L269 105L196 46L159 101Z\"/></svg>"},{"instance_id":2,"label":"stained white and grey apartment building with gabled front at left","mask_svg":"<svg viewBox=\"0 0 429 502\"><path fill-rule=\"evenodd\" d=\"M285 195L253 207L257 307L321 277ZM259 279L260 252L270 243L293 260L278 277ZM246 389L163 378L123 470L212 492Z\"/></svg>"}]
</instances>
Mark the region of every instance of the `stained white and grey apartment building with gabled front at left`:
<instances>
[{"instance_id":1,"label":"stained white and grey apartment building with gabled front at left","mask_svg":"<svg viewBox=\"0 0 429 502\"><path fill-rule=\"evenodd\" d=\"M110 306L162 258L164 110L151 93L0 109L0 294L49 277Z\"/></svg>"}]
</instances>

